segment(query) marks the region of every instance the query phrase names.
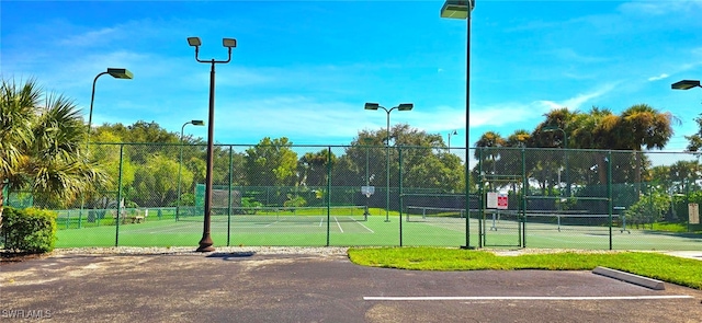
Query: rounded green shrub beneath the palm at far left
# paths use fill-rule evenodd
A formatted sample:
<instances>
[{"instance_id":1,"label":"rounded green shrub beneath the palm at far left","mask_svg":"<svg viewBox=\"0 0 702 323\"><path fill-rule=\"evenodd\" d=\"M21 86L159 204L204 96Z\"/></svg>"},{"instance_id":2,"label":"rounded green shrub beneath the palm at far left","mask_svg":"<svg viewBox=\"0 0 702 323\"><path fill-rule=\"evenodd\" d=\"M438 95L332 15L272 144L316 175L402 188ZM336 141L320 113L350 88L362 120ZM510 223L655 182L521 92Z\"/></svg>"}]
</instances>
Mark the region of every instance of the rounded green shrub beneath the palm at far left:
<instances>
[{"instance_id":1,"label":"rounded green shrub beneath the palm at far left","mask_svg":"<svg viewBox=\"0 0 702 323\"><path fill-rule=\"evenodd\" d=\"M5 207L0 235L4 249L13 252L43 253L54 250L56 212L35 208Z\"/></svg>"}]
</instances>

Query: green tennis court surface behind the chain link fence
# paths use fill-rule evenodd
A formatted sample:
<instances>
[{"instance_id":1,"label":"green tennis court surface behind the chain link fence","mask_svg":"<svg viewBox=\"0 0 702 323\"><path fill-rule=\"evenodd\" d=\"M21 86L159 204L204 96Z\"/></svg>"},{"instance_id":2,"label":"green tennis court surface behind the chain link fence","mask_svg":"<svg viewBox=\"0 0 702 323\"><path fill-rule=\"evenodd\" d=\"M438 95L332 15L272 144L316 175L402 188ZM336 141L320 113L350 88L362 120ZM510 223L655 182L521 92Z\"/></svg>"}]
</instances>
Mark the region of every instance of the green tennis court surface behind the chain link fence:
<instances>
[{"instance_id":1,"label":"green tennis court surface behind the chain link fence","mask_svg":"<svg viewBox=\"0 0 702 323\"><path fill-rule=\"evenodd\" d=\"M278 210L256 215L213 215L212 239L217 245L435 245L461 246L466 242L462 211L432 215L390 212L361 207ZM622 223L610 227L609 216L533 215L520 226L510 215L477 219L469 223L472 246L607 250L700 250L702 234L665 233L632 229ZM101 226L78 229L58 220L57 247L76 246L196 246L202 238L203 217L147 217L144 222L104 219ZM100 222L98 222L100 223ZM68 228L68 229L67 229ZM480 235L478 232L483 232ZM478 240L478 239L482 240Z\"/></svg>"}]
</instances>

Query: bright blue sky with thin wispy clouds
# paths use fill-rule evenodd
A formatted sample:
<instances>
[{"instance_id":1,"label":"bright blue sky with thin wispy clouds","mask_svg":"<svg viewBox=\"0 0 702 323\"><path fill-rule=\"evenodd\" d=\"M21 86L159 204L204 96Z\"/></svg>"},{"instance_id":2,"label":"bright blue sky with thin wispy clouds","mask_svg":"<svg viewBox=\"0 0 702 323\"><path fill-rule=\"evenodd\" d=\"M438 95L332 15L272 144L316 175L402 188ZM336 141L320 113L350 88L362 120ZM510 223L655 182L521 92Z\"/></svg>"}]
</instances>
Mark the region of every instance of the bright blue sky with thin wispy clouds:
<instances>
[{"instance_id":1,"label":"bright blue sky with thin wispy clouds","mask_svg":"<svg viewBox=\"0 0 702 323\"><path fill-rule=\"evenodd\" d=\"M465 147L466 23L439 16L443 1L2 1L3 78L36 78L76 100L86 119L94 77L109 67L135 78L98 80L93 124L156 122L172 132L207 119L216 67L215 140L347 145L361 129L407 123L454 129ZM531 130L552 108L619 113L646 103L680 119L666 150L697 131L702 89L702 1L478 0L471 39L471 141ZM206 127L185 127L206 138Z\"/></svg>"}]
</instances>

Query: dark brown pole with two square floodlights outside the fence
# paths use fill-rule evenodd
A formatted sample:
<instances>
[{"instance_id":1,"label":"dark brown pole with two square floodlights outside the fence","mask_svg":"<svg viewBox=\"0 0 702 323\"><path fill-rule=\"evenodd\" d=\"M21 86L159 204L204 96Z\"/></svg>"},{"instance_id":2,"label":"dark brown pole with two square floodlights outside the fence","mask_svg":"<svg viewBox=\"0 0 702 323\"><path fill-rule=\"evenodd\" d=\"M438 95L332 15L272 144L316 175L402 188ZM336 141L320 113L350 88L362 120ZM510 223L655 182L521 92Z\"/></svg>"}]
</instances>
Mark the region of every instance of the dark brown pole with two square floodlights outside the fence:
<instances>
[{"instance_id":1,"label":"dark brown pole with two square floodlights outside the fence","mask_svg":"<svg viewBox=\"0 0 702 323\"><path fill-rule=\"evenodd\" d=\"M231 60L231 48L237 47L237 39L234 38L223 38L222 45L227 47L228 57L227 60L215 60L214 58L211 60L201 60L197 55L200 54L200 37L188 37L188 45L195 47L195 60L199 62L210 64L212 67L210 68L210 118L207 122L207 173L206 173L206 185L205 185L205 218L202 229L202 239L200 240L200 246L197 247L199 252L211 252L215 251L212 246L214 243L212 241L212 237L210 235L210 223L211 223L211 214L212 214L212 171L214 164L214 137L215 137L215 65L216 64L227 64Z\"/></svg>"}]
</instances>

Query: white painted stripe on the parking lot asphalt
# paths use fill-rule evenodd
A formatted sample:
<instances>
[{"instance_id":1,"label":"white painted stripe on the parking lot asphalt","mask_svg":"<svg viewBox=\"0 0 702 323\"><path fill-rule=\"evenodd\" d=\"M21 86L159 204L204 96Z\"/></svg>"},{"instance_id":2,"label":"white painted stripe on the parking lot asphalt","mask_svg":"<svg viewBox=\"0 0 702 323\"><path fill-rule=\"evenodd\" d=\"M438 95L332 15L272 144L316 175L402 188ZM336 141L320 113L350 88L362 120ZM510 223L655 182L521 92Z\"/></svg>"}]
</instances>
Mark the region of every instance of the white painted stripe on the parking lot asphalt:
<instances>
[{"instance_id":1,"label":"white painted stripe on the parking lot asphalt","mask_svg":"<svg viewBox=\"0 0 702 323\"><path fill-rule=\"evenodd\" d=\"M479 300L545 300L545 301L589 301L589 300L655 300L655 299L682 299L693 298L688 295L663 295L663 296L573 296L573 297L550 297L550 296L487 296L487 297L363 297L364 301L479 301Z\"/></svg>"}]
</instances>

